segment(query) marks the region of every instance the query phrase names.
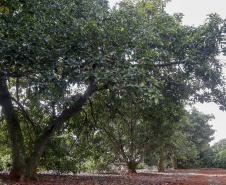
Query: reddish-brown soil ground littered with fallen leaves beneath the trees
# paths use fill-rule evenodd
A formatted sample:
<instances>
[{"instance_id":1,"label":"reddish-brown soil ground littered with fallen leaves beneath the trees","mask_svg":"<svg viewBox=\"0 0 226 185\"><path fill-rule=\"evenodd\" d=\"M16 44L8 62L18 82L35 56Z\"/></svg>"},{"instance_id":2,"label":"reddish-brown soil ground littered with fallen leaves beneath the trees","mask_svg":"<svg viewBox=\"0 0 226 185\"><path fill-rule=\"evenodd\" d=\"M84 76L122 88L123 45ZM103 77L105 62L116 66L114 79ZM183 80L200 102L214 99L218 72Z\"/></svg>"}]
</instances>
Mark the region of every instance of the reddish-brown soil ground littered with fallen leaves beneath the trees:
<instances>
[{"instance_id":1,"label":"reddish-brown soil ground littered with fallen leaves beneath the trees","mask_svg":"<svg viewBox=\"0 0 226 185\"><path fill-rule=\"evenodd\" d=\"M138 174L97 173L78 175L56 175L53 173L39 174L39 182L10 182L6 181L7 173L0 172L0 184L17 185L226 185L226 169L202 168L157 171L138 170Z\"/></svg>"}]
</instances>

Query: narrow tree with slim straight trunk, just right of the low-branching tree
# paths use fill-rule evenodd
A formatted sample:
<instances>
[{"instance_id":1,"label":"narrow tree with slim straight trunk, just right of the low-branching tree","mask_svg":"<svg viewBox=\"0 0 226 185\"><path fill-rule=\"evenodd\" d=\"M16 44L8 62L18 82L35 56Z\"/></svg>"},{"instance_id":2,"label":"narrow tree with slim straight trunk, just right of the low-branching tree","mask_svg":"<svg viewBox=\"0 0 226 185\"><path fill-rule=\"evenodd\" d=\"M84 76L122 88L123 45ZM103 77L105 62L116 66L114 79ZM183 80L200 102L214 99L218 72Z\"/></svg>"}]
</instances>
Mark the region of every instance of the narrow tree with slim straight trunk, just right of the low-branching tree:
<instances>
[{"instance_id":1,"label":"narrow tree with slim straight trunk, just right of the low-branching tree","mask_svg":"<svg viewBox=\"0 0 226 185\"><path fill-rule=\"evenodd\" d=\"M148 165L157 165L159 172L165 171L165 159L172 150L173 138L184 114L183 102L174 96L160 101L159 105L150 111L150 116L157 122L154 127L156 141L149 148L145 162Z\"/></svg>"}]
</instances>

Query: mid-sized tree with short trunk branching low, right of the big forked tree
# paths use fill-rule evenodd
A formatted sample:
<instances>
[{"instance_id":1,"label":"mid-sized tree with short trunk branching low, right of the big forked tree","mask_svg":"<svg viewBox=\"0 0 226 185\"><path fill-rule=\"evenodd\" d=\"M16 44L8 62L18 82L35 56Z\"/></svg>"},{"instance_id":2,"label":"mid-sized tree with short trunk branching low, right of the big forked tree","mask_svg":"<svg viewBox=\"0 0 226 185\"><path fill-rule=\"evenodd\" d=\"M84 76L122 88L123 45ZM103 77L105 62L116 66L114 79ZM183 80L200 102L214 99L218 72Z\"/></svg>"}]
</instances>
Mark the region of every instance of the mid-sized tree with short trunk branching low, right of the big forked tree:
<instances>
[{"instance_id":1,"label":"mid-sized tree with short trunk branching low, right of the big forked tree","mask_svg":"<svg viewBox=\"0 0 226 185\"><path fill-rule=\"evenodd\" d=\"M168 93L157 104L145 103L139 97L128 103L122 95L110 92L94 95L93 117L97 130L112 144L109 152L125 163L128 173L136 173L146 153L164 145L172 135L175 122L183 115L183 104Z\"/></svg>"}]
</instances>

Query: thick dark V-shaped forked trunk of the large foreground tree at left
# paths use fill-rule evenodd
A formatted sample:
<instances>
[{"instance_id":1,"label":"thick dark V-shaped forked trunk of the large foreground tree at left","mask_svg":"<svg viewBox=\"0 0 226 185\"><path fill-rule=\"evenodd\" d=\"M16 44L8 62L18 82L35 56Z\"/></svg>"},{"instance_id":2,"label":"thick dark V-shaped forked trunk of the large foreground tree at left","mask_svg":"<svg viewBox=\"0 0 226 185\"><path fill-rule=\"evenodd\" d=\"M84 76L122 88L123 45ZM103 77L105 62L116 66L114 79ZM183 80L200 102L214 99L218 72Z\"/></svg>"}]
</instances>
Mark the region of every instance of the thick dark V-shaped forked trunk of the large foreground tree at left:
<instances>
[{"instance_id":1,"label":"thick dark V-shaped forked trunk of the large foreground tree at left","mask_svg":"<svg viewBox=\"0 0 226 185\"><path fill-rule=\"evenodd\" d=\"M103 89L105 88L107 88L107 86L103 87ZM2 106L2 111L8 125L8 133L12 148L13 164L9 175L10 179L20 181L23 181L25 178L38 180L36 171L47 141L54 134L54 132L59 129L63 123L65 123L65 121L81 111L86 99L97 90L101 89L90 81L90 85L84 95L75 101L71 107L65 109L60 116L49 122L48 126L36 139L33 148L30 148L32 154L29 158L27 158L18 114L14 109L12 98L7 87L6 78L0 78L0 105Z\"/></svg>"}]
</instances>

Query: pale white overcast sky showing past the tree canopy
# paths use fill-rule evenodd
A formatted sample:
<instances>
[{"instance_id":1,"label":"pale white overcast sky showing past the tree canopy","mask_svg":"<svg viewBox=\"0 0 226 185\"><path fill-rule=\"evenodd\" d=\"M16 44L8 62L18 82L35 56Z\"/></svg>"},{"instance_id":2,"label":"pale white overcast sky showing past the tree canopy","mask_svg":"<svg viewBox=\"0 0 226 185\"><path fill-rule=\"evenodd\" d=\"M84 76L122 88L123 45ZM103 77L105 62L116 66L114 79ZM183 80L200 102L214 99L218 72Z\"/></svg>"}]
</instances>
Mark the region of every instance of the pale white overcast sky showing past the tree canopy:
<instances>
[{"instance_id":1,"label":"pale white overcast sky showing past the tree canopy","mask_svg":"<svg viewBox=\"0 0 226 185\"><path fill-rule=\"evenodd\" d=\"M109 0L112 7L119 0ZM203 24L210 13L217 13L226 19L226 0L171 0L166 6L166 12L173 15L174 13L183 13L183 24L198 26ZM221 60L226 57L219 56ZM198 103L195 107L204 114L213 114L215 119L209 124L215 131L214 140L210 143L213 145L221 139L226 138L226 112L219 110L215 103Z\"/></svg>"}]
</instances>

